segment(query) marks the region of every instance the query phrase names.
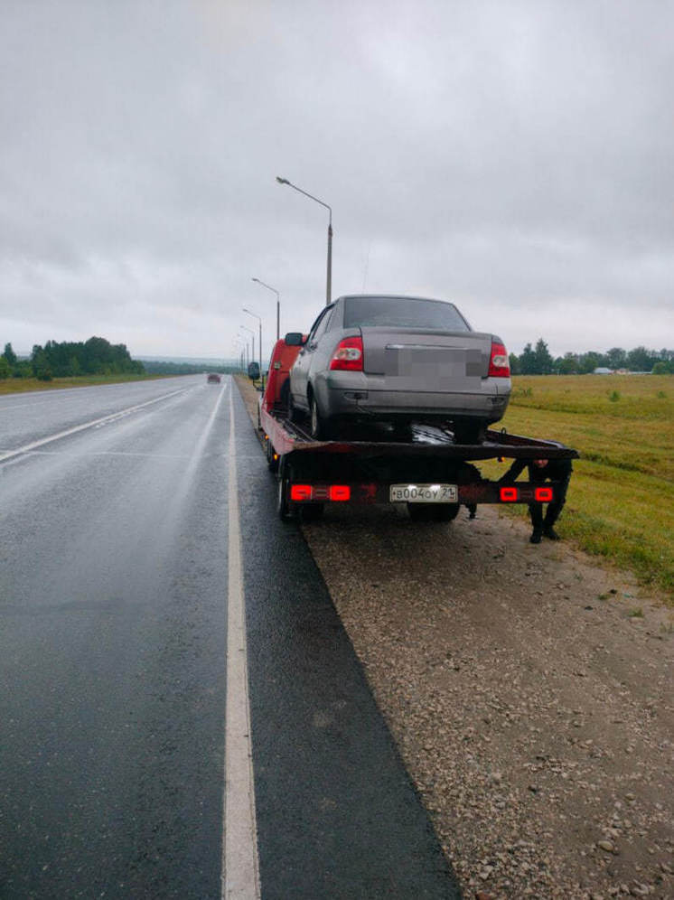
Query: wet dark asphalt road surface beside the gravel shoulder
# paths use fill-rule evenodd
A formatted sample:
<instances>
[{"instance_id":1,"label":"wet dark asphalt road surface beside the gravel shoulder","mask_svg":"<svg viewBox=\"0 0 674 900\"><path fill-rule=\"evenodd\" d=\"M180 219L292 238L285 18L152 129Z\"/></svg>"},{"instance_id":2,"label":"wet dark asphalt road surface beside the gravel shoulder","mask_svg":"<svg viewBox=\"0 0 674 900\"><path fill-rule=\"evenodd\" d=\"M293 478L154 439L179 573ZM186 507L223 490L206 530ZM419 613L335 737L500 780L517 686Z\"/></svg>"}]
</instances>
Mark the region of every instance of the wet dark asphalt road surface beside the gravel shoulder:
<instances>
[{"instance_id":1,"label":"wet dark asphalt road surface beside the gravel shoulder","mask_svg":"<svg viewBox=\"0 0 674 900\"><path fill-rule=\"evenodd\" d=\"M0 397L3 898L223 895L230 403L261 895L458 896L232 387Z\"/></svg>"}]
</instances>

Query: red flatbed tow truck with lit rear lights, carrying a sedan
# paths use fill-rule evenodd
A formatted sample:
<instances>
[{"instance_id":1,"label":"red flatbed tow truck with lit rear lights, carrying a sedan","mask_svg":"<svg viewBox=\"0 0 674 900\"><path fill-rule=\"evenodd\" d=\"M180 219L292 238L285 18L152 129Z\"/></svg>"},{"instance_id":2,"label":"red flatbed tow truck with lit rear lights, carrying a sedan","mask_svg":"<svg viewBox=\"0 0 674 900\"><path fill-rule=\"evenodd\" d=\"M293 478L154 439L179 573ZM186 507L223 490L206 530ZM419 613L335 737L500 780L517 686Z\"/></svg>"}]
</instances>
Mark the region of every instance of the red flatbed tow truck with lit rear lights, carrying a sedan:
<instances>
[{"instance_id":1,"label":"red flatbed tow truck with lit rear lights, carrying a sedan","mask_svg":"<svg viewBox=\"0 0 674 900\"><path fill-rule=\"evenodd\" d=\"M482 478L474 463L578 457L556 441L509 435L505 429L487 430L480 444L456 444L449 426L423 418L405 442L315 440L288 417L288 372L299 349L283 339L276 342L258 406L267 465L278 480L281 519L315 520L332 503L407 503L417 521L451 521L462 504L546 503L554 499L555 482L499 484Z\"/></svg>"}]
</instances>

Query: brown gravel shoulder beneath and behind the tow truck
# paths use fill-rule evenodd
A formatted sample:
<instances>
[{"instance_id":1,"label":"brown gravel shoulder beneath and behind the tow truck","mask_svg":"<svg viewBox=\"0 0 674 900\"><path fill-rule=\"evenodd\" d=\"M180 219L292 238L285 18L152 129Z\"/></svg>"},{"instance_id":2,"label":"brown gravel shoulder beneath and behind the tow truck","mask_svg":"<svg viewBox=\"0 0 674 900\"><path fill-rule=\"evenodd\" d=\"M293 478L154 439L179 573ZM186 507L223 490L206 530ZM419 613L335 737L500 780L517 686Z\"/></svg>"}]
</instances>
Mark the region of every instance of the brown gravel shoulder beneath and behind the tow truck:
<instances>
[{"instance_id":1,"label":"brown gravel shoulder beneath and behind the tow truck","mask_svg":"<svg viewBox=\"0 0 674 900\"><path fill-rule=\"evenodd\" d=\"M657 596L491 507L339 508L303 531L466 897L674 897Z\"/></svg>"}]
</instances>

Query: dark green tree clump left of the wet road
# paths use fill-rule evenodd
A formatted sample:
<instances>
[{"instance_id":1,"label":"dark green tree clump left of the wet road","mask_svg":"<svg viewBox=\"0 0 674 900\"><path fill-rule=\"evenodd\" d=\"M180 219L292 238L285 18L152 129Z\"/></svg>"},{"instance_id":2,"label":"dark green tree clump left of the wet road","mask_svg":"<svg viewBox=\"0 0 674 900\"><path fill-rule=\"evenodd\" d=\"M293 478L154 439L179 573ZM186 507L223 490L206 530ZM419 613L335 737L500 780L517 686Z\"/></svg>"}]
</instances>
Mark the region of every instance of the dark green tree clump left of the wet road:
<instances>
[{"instance_id":1,"label":"dark green tree clump left of the wet road","mask_svg":"<svg viewBox=\"0 0 674 900\"><path fill-rule=\"evenodd\" d=\"M143 375L145 367L142 362L131 359L126 344L111 344L99 337L90 337L84 342L48 341L43 347L35 344L27 360L18 359L12 344L5 343L5 352L0 356L0 379L51 381L52 378L77 375L122 374Z\"/></svg>"}]
</instances>

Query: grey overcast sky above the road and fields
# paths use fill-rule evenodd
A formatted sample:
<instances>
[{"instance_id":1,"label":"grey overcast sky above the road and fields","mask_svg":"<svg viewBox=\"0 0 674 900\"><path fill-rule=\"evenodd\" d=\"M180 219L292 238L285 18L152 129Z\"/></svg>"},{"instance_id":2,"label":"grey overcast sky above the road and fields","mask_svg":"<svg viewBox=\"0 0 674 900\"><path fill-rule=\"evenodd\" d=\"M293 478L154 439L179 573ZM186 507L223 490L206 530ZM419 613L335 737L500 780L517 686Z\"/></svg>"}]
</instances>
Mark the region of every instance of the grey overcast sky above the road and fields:
<instances>
[{"instance_id":1,"label":"grey overcast sky above the road and fields","mask_svg":"<svg viewBox=\"0 0 674 900\"><path fill-rule=\"evenodd\" d=\"M0 350L235 357L332 296L674 347L674 3L0 0Z\"/></svg>"}]
</instances>

